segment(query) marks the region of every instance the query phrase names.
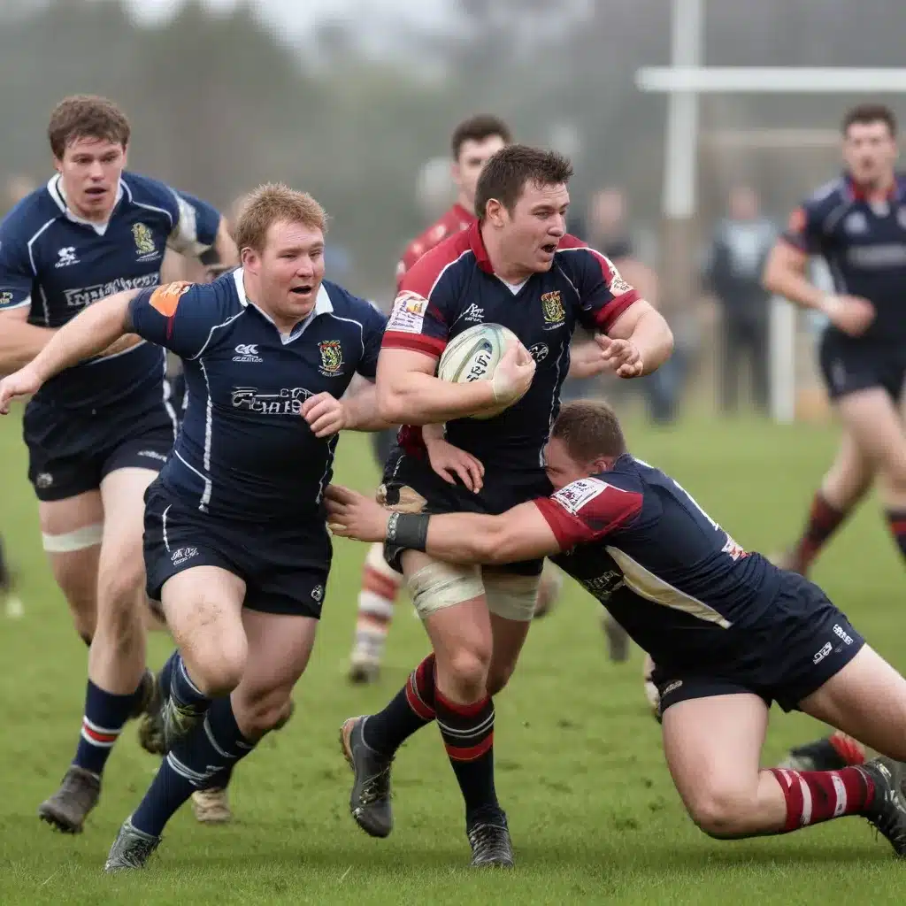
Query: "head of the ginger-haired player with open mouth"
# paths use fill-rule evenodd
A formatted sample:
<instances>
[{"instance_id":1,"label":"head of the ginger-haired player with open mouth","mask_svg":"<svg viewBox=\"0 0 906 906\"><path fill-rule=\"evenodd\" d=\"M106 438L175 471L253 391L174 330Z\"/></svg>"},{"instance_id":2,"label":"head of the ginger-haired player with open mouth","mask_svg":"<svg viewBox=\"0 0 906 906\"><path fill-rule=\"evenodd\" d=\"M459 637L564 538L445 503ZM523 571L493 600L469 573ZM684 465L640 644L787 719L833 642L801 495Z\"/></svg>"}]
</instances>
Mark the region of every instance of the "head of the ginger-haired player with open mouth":
<instances>
[{"instance_id":1,"label":"head of the ginger-haired player with open mouth","mask_svg":"<svg viewBox=\"0 0 906 906\"><path fill-rule=\"evenodd\" d=\"M312 311L324 276L326 229L323 207L307 192L268 183L246 198L236 219L246 291L276 321L301 321Z\"/></svg>"}]
</instances>

